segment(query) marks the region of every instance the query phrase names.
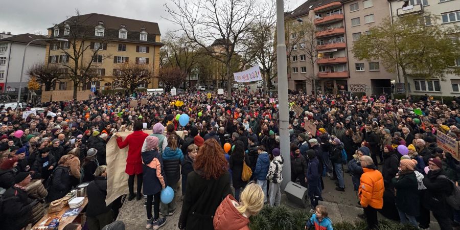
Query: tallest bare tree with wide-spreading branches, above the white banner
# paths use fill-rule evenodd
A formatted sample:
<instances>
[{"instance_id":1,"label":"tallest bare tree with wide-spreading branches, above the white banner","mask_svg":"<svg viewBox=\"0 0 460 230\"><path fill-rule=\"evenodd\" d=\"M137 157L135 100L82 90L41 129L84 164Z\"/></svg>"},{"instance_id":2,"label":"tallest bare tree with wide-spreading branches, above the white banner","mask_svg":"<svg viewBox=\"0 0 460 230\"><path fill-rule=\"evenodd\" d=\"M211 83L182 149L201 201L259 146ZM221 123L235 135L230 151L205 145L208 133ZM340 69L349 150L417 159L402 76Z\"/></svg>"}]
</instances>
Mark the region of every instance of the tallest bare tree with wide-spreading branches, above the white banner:
<instances>
[{"instance_id":1,"label":"tallest bare tree with wide-spreading branches, above the white banner","mask_svg":"<svg viewBox=\"0 0 460 230\"><path fill-rule=\"evenodd\" d=\"M187 38L225 67L228 96L231 94L231 61L245 50L244 34L256 18L255 0L171 0L165 4L171 22ZM212 43L212 45L209 45ZM242 64L244 65L244 64Z\"/></svg>"}]
</instances>

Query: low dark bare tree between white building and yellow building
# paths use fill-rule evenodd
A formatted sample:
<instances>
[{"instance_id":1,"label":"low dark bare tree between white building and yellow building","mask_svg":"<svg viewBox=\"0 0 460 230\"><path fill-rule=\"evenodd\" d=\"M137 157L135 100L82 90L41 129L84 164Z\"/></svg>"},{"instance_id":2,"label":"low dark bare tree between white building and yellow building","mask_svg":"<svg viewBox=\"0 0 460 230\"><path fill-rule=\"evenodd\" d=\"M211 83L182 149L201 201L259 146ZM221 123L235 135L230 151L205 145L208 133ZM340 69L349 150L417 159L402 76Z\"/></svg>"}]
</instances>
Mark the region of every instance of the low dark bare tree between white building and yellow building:
<instances>
[{"instance_id":1,"label":"low dark bare tree between white building and yellow building","mask_svg":"<svg viewBox=\"0 0 460 230\"><path fill-rule=\"evenodd\" d=\"M31 77L35 77L38 84L45 87L45 91L50 91L57 82L65 78L62 69L57 64L45 65L44 62L33 64L26 73Z\"/></svg>"}]
</instances>

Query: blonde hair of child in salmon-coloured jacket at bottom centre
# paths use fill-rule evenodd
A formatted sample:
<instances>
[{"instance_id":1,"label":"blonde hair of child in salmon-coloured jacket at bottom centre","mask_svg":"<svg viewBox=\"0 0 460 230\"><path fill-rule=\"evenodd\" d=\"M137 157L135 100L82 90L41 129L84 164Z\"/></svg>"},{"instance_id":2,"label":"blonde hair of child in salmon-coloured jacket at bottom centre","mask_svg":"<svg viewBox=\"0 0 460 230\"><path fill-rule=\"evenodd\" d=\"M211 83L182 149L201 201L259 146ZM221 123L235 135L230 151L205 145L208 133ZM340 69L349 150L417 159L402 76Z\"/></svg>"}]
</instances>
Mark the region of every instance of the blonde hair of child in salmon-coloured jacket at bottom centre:
<instances>
[{"instance_id":1,"label":"blonde hair of child in salmon-coloured jacket at bottom centre","mask_svg":"<svg viewBox=\"0 0 460 230\"><path fill-rule=\"evenodd\" d=\"M248 211L255 216L264 207L264 192L257 183L248 183L240 195L240 205L236 207L238 212L243 214Z\"/></svg>"}]
</instances>

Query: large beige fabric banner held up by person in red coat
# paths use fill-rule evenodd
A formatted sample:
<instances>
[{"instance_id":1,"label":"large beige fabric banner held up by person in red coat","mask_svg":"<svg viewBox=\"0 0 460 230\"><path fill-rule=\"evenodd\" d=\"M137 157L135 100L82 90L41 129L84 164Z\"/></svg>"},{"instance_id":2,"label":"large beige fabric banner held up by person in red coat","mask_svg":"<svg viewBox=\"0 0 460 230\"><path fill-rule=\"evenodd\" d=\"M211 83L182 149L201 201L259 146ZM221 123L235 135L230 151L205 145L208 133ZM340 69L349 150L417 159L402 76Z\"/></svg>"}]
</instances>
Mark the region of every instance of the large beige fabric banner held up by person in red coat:
<instances>
[{"instance_id":1,"label":"large beige fabric banner held up by person in red coat","mask_svg":"<svg viewBox=\"0 0 460 230\"><path fill-rule=\"evenodd\" d=\"M144 130L145 133L152 134L152 130ZM132 132L118 132L123 140ZM183 131L176 131L177 135L183 139ZM128 174L125 173L126 158L128 157L128 147L118 148L117 137L112 136L106 146L107 160L107 197L105 202L110 204L118 197L128 194ZM136 178L137 179L137 178ZM134 182L136 191L137 182Z\"/></svg>"}]
</instances>

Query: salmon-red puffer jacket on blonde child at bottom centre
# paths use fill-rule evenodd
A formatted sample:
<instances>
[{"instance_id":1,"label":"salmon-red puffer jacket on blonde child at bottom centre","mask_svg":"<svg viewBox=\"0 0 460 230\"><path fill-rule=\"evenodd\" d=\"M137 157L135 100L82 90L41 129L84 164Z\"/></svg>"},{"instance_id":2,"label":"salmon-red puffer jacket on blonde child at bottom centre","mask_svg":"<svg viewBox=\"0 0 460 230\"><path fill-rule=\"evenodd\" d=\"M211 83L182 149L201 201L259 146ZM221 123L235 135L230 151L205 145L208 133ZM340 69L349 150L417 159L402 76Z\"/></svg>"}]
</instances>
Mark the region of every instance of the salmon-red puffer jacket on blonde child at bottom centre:
<instances>
[{"instance_id":1,"label":"salmon-red puffer jacket on blonde child at bottom centre","mask_svg":"<svg viewBox=\"0 0 460 230\"><path fill-rule=\"evenodd\" d=\"M238 203L232 195L222 200L213 219L215 230L249 230L249 218L236 209L234 202Z\"/></svg>"}]
</instances>

